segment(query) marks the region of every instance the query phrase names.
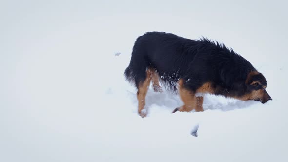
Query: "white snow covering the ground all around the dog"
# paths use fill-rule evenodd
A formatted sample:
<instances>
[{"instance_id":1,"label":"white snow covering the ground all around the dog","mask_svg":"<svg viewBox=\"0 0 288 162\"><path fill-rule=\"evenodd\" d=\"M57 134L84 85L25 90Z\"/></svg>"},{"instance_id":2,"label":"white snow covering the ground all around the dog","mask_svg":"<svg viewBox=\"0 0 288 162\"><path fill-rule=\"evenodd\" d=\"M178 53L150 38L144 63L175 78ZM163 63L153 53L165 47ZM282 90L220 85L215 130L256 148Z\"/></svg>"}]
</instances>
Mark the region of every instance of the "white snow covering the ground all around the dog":
<instances>
[{"instance_id":1,"label":"white snow covering the ground all around the dog","mask_svg":"<svg viewBox=\"0 0 288 162\"><path fill-rule=\"evenodd\" d=\"M285 3L3 2L0 162L287 162ZM179 96L150 87L141 118L123 72L147 31L231 46L273 101L206 95L204 112L172 114Z\"/></svg>"}]
</instances>

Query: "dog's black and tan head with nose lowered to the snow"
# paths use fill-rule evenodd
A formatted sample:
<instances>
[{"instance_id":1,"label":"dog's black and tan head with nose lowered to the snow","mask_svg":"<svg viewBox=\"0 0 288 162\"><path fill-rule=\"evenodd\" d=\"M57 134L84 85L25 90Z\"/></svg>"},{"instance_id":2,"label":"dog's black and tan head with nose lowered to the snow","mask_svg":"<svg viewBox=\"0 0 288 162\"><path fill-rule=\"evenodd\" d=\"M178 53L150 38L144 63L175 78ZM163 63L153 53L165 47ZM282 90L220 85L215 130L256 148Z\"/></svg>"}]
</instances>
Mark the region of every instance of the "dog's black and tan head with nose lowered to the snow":
<instances>
[{"instance_id":1,"label":"dog's black and tan head with nose lowered to the snow","mask_svg":"<svg viewBox=\"0 0 288 162\"><path fill-rule=\"evenodd\" d=\"M257 71L250 72L245 84L246 93L243 98L245 101L255 100L260 101L261 103L266 103L267 101L272 100L266 91L267 81L261 73Z\"/></svg>"}]
</instances>

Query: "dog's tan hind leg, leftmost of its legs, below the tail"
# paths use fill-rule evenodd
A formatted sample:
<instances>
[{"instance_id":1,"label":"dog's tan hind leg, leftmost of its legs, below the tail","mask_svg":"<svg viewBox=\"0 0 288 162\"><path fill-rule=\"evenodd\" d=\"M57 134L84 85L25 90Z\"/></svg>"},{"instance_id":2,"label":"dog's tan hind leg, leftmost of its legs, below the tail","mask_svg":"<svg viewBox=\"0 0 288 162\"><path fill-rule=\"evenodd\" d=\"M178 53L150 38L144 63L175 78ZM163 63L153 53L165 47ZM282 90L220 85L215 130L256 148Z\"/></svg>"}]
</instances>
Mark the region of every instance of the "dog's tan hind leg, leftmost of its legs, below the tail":
<instances>
[{"instance_id":1,"label":"dog's tan hind leg, leftmost of its legs, below the tail","mask_svg":"<svg viewBox=\"0 0 288 162\"><path fill-rule=\"evenodd\" d=\"M138 92L137 92L137 99L138 99L138 113L139 115L144 118L147 116L147 113L144 113L142 110L144 109L145 106L145 97L150 85L151 81L151 70L148 69L146 71L146 79L142 83L140 83L138 87Z\"/></svg>"}]
</instances>

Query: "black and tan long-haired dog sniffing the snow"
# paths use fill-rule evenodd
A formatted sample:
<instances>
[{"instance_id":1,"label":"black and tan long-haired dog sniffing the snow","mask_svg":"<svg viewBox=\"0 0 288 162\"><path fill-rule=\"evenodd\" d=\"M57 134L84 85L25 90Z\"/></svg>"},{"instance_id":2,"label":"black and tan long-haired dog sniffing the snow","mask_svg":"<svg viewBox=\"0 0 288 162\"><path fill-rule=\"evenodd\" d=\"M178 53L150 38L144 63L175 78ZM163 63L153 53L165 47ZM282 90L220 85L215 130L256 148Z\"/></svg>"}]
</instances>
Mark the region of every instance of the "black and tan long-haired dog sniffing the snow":
<instances>
[{"instance_id":1,"label":"black and tan long-haired dog sniffing the snow","mask_svg":"<svg viewBox=\"0 0 288 162\"><path fill-rule=\"evenodd\" d=\"M267 81L252 64L218 41L191 40L165 32L148 32L135 41L127 81L137 88L138 113L145 117L145 96L150 81L162 92L159 80L178 90L183 105L176 111L203 111L203 94L215 94L242 101L266 103L272 98ZM160 76L160 77L159 77Z\"/></svg>"}]
</instances>

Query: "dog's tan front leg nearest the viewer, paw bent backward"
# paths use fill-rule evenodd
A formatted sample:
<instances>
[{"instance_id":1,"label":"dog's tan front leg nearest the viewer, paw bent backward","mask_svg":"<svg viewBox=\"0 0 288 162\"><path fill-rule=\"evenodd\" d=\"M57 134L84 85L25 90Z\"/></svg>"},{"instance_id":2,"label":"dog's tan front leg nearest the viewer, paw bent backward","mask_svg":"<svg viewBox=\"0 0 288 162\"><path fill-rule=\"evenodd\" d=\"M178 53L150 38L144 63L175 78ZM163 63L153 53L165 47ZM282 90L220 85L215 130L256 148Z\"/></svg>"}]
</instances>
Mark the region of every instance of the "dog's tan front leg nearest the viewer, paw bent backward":
<instances>
[{"instance_id":1,"label":"dog's tan front leg nearest the viewer, paw bent backward","mask_svg":"<svg viewBox=\"0 0 288 162\"><path fill-rule=\"evenodd\" d=\"M195 93L183 87L183 80L179 80L178 88L180 98L183 101L184 105L176 108L172 113L175 113L176 111L190 112L193 109L195 109L197 107L197 100Z\"/></svg>"}]
</instances>

